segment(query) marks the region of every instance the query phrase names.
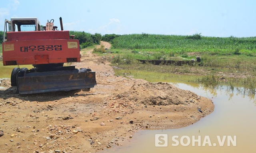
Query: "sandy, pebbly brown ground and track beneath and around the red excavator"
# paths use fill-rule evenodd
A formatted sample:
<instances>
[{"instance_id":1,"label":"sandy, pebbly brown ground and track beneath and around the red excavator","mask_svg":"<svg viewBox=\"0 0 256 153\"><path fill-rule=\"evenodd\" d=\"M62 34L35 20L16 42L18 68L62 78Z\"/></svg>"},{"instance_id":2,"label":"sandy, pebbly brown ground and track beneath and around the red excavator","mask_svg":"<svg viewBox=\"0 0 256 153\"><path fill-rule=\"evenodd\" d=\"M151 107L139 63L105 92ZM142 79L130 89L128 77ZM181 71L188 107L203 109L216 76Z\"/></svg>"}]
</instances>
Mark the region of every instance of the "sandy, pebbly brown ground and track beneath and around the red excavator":
<instances>
[{"instance_id":1,"label":"sandy, pebbly brown ground and track beneath and around the red excavator","mask_svg":"<svg viewBox=\"0 0 256 153\"><path fill-rule=\"evenodd\" d=\"M89 92L18 95L1 80L2 153L94 153L125 145L139 129L185 127L214 110L212 100L172 84L116 77L92 50L81 61L72 65L96 71Z\"/></svg>"}]
</instances>

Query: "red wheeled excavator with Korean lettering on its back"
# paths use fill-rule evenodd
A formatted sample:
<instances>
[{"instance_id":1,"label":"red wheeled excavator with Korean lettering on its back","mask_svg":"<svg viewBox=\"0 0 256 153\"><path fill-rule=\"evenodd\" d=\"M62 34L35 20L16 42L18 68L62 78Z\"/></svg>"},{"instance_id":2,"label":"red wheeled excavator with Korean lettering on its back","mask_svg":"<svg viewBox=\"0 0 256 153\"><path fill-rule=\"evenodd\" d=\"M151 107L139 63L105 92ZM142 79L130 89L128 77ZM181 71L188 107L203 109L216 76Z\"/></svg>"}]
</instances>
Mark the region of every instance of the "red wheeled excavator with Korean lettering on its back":
<instances>
[{"instance_id":1,"label":"red wheeled excavator with Korean lettering on its back","mask_svg":"<svg viewBox=\"0 0 256 153\"><path fill-rule=\"evenodd\" d=\"M69 31L53 25L40 26L37 18L11 18L4 22L3 65L18 65L12 70L11 85L19 94L90 89L96 85L95 72L76 69L64 63L80 62L79 41ZM34 68L19 68L33 65Z\"/></svg>"}]
</instances>

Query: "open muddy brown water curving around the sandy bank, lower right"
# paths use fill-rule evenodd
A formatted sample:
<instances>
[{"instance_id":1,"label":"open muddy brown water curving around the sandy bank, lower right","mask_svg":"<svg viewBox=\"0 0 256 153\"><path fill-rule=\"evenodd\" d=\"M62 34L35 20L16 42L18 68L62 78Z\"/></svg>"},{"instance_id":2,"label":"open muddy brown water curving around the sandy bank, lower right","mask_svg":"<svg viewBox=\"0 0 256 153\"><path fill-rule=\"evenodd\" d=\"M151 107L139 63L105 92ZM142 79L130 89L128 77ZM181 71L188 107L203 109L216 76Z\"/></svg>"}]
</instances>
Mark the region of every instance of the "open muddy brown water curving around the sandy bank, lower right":
<instances>
[{"instance_id":1,"label":"open muddy brown water curving around the sandy bank, lower right","mask_svg":"<svg viewBox=\"0 0 256 153\"><path fill-rule=\"evenodd\" d=\"M216 90L193 86L183 83L175 84L179 88L191 90L198 95L211 98L215 105L212 114L202 118L197 123L180 129L163 129L163 130L142 130L135 133L130 142L123 146L113 146L111 149L104 149L100 153L255 153L256 152L256 102L255 96L247 96L246 92L238 90L227 90L226 87ZM241 88L240 88L241 89ZM168 147L155 146L155 134L168 134ZM201 135L201 145L204 136L209 135L211 144L216 146L205 147L182 146L181 144L174 147L172 136L188 135L192 141L192 135L196 139ZM227 139L223 147L220 147L217 139L220 135L230 135L234 139L236 135L236 147L231 143L227 146ZM177 139L180 140L180 139ZM186 139L184 140L186 143Z\"/></svg>"}]
</instances>

